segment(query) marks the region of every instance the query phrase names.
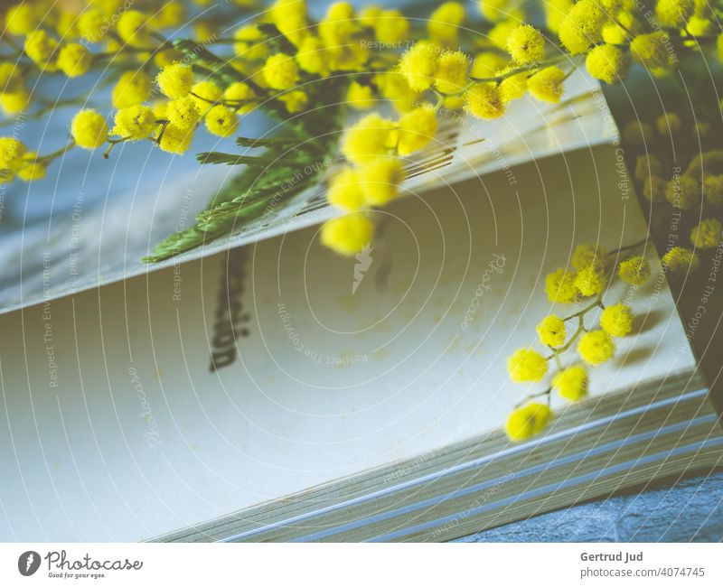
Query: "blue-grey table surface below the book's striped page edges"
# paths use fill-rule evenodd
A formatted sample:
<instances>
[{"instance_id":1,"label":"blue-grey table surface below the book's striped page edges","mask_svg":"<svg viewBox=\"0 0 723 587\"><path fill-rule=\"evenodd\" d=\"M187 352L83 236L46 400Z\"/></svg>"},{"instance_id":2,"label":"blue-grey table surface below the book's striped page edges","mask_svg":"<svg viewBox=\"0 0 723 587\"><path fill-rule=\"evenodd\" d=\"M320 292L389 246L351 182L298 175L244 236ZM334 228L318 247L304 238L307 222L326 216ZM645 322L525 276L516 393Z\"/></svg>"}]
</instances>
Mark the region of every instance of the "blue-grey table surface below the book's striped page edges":
<instances>
[{"instance_id":1,"label":"blue-grey table surface below the book's striped page edges","mask_svg":"<svg viewBox=\"0 0 723 587\"><path fill-rule=\"evenodd\" d=\"M500 526L455 542L723 542L723 469Z\"/></svg>"}]
</instances>

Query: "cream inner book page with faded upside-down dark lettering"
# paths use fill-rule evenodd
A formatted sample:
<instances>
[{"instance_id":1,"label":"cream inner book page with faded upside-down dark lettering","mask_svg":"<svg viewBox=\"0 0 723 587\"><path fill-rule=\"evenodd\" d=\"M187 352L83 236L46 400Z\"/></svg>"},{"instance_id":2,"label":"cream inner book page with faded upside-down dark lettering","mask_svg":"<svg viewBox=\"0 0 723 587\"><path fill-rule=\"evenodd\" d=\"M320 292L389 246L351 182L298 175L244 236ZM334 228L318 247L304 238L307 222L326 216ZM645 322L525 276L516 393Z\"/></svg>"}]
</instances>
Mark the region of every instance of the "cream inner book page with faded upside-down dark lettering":
<instances>
[{"instance_id":1,"label":"cream inner book page with faded upside-down dark lettering","mask_svg":"<svg viewBox=\"0 0 723 587\"><path fill-rule=\"evenodd\" d=\"M499 427L545 385L505 368L553 310L545 275L578 244L645 238L619 159L410 190L357 258L311 226L6 313L0 538L150 538ZM606 293L635 328L590 401L694 368L645 254L648 284Z\"/></svg>"}]
</instances>

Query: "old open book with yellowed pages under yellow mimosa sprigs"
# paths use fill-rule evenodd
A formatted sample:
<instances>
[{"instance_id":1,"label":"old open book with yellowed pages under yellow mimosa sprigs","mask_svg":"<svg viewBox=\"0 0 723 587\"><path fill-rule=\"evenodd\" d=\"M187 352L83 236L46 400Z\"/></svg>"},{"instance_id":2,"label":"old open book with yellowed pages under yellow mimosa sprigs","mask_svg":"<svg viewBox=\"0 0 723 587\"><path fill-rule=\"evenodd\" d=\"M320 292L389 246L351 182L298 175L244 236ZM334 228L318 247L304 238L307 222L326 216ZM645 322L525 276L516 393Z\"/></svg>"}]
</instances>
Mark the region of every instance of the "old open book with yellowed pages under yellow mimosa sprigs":
<instances>
[{"instance_id":1,"label":"old open book with yellowed pages under yellow mimosa sprigs","mask_svg":"<svg viewBox=\"0 0 723 587\"><path fill-rule=\"evenodd\" d=\"M653 279L606 292L636 322L590 396L554 398L529 442L502 433L540 390L505 363L552 310L544 276L646 235L599 89L576 73L566 96L455 121L356 258L319 245L334 212L310 194L198 258L1 316L0 538L446 540L718 463L650 246Z\"/></svg>"}]
</instances>

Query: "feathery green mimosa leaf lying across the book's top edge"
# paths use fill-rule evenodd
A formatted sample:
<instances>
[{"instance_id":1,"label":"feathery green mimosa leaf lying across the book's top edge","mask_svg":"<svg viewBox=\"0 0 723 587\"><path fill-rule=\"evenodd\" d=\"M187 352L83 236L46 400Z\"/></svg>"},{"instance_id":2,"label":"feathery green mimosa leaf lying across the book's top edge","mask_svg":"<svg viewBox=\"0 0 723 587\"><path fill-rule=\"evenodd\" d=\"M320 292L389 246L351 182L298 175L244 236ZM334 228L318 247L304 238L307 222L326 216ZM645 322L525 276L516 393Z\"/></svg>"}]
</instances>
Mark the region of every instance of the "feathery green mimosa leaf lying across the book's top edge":
<instances>
[{"instance_id":1,"label":"feathery green mimosa leaf lying across the book's top edge","mask_svg":"<svg viewBox=\"0 0 723 587\"><path fill-rule=\"evenodd\" d=\"M224 84L239 81L233 68L196 43L179 41L175 45L186 54L194 69ZM236 234L259 219L270 220L278 210L318 183L338 149L344 115L341 97L347 84L341 78L310 84L305 88L308 103L323 106L296 116L288 115L281 102L269 101L264 110L283 121L278 136L237 139L239 147L263 148L261 154L198 154L199 163L243 165L243 171L214 195L191 228L165 238L143 260L158 263Z\"/></svg>"}]
</instances>

